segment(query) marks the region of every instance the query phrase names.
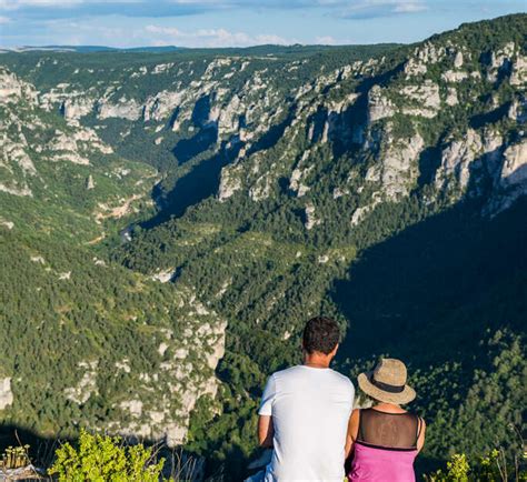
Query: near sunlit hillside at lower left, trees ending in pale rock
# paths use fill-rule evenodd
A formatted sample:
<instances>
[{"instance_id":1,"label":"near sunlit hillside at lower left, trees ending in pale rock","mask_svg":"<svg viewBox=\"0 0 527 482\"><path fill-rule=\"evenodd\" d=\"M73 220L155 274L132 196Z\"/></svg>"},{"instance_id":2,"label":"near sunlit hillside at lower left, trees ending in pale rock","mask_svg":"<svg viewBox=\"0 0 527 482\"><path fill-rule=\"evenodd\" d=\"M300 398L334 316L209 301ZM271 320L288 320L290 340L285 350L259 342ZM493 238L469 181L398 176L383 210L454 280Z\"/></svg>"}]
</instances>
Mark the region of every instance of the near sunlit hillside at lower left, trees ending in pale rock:
<instances>
[{"instance_id":1,"label":"near sunlit hillside at lower left, trees ending in pale rock","mask_svg":"<svg viewBox=\"0 0 527 482\"><path fill-rule=\"evenodd\" d=\"M28 247L23 237L17 238L20 227L7 229L9 240L22 250L21 257L11 253L16 259L13 265L32 273L24 283L28 294L12 294L16 290L10 289L7 304L34 303L29 298L43 297L48 287L56 293L49 302L60 299L63 303L67 293L83 290L86 279L92 292L103 288L95 302L86 297L69 298L68 303L56 305L46 315L33 314L34 319L26 319L26 311L18 310L23 325L32 333L14 341L2 339L0 343L9 343L17 353L23 351L21 345L29 344L44 369L27 371L14 364L9 354L3 357L0 368L2 374L9 375L0 378L2 418L13 423L34 423L38 433L52 435L57 432L50 432L50 425L39 423L42 404L50 404L57 413L68 413L62 425L53 430L88 425L135 439L163 440L169 446L183 443L198 400L205 398L213 404L217 395L219 381L215 370L223 357L227 321L202 304L192 287L179 284L177 289L163 290L162 303L156 302L159 281L137 273L129 278L122 269L98 258L91 260L91 267L76 263L74 253L69 250L81 252L81 245L62 245L59 253L44 254L46 240ZM39 248L42 252L37 251ZM10 270L4 251L1 255L3 265ZM1 282L4 287L3 277ZM113 292L118 293L118 305ZM130 297L140 297L140 302L130 303ZM103 308L111 304L108 311ZM9 307L6 310L10 313ZM93 310L95 317L71 328L83 312ZM39 315L44 321L39 321ZM93 329L93 320L102 325ZM14 330L13 327L11 315L6 329ZM77 349L80 343L84 347L81 350ZM41 398L44 402L33 409L34 400ZM90 416L101 406L97 418Z\"/></svg>"}]
</instances>

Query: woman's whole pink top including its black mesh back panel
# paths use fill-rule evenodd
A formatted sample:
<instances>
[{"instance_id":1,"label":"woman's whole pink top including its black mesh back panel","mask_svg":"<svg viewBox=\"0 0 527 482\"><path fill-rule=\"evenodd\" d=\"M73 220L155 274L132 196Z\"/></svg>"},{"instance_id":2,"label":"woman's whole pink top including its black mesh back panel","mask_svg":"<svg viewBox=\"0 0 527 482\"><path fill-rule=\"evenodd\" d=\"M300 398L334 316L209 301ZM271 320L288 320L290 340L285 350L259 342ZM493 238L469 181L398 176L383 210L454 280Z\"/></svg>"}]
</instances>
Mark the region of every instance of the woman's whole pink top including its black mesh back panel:
<instances>
[{"instance_id":1,"label":"woman's whole pink top including its black mesh back panel","mask_svg":"<svg viewBox=\"0 0 527 482\"><path fill-rule=\"evenodd\" d=\"M359 430L349 480L414 481L421 420L409 412L359 411Z\"/></svg>"}]
</instances>

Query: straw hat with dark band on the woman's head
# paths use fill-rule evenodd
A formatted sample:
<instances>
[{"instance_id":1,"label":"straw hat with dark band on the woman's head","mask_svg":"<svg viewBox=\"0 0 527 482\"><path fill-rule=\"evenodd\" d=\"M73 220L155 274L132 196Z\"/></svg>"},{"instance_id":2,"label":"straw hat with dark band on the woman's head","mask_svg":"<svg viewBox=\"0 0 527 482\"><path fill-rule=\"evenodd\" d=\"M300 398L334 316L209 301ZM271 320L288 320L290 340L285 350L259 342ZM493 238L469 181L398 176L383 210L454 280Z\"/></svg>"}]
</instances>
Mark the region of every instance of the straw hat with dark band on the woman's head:
<instances>
[{"instance_id":1,"label":"straw hat with dark band on the woman's head","mask_svg":"<svg viewBox=\"0 0 527 482\"><path fill-rule=\"evenodd\" d=\"M406 384L406 365L400 360L380 360L374 371L360 373L358 382L366 394L379 402L404 404L416 398L415 390Z\"/></svg>"}]
</instances>

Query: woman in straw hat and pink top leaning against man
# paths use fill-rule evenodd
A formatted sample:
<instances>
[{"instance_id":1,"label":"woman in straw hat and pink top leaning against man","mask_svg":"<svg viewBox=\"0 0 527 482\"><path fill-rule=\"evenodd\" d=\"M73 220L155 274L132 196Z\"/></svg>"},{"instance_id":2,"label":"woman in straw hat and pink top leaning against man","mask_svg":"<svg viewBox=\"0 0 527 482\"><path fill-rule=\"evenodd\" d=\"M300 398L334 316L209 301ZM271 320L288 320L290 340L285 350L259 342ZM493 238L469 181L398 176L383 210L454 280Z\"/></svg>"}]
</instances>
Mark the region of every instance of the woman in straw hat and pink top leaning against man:
<instances>
[{"instance_id":1,"label":"woman in straw hat and pink top leaning against man","mask_svg":"<svg viewBox=\"0 0 527 482\"><path fill-rule=\"evenodd\" d=\"M360 389L375 401L355 409L348 423L346 458L352 454L350 482L415 481L414 460L425 444L425 421L401 409L416 398L406 384L400 360L384 359L358 378Z\"/></svg>"}]
</instances>

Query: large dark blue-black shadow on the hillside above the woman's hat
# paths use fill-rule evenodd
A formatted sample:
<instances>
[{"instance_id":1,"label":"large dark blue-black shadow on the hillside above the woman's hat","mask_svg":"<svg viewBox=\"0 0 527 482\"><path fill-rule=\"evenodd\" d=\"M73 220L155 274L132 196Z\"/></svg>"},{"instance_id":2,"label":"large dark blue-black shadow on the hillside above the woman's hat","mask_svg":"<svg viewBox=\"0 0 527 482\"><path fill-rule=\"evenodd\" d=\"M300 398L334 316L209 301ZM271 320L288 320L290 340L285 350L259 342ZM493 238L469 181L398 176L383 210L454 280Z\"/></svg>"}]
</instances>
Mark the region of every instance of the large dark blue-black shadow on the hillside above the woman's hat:
<instances>
[{"instance_id":1,"label":"large dark blue-black shadow on the hillside above the woman's hat","mask_svg":"<svg viewBox=\"0 0 527 482\"><path fill-rule=\"evenodd\" d=\"M527 199L493 220L464 202L366 250L331 293L349 320L340 359L426 369L477 358L486 329L525 332L526 219Z\"/></svg>"}]
</instances>

